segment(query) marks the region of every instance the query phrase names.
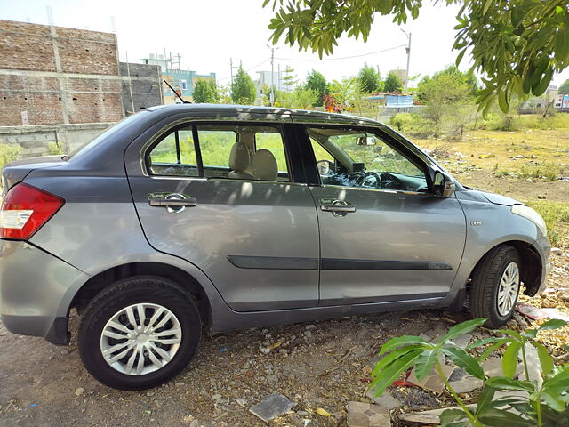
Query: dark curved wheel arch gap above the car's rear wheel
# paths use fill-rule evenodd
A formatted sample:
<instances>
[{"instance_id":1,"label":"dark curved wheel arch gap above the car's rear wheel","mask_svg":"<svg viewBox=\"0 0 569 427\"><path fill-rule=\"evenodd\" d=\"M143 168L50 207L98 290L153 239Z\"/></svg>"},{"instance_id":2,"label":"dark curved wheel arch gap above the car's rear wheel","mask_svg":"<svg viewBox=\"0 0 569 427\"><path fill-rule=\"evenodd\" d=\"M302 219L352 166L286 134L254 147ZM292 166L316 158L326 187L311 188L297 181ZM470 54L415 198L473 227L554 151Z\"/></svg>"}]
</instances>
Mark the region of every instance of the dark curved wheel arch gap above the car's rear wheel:
<instances>
[{"instance_id":1,"label":"dark curved wheel arch gap above the car's rear wheel","mask_svg":"<svg viewBox=\"0 0 569 427\"><path fill-rule=\"evenodd\" d=\"M199 310L205 330L212 326L212 304L204 286L188 271L163 262L129 262L102 270L89 278L76 292L70 308L76 307L81 313L84 307L92 301L103 289L111 286L117 280L136 276L154 276L172 280L182 289L192 295Z\"/></svg>"}]
</instances>

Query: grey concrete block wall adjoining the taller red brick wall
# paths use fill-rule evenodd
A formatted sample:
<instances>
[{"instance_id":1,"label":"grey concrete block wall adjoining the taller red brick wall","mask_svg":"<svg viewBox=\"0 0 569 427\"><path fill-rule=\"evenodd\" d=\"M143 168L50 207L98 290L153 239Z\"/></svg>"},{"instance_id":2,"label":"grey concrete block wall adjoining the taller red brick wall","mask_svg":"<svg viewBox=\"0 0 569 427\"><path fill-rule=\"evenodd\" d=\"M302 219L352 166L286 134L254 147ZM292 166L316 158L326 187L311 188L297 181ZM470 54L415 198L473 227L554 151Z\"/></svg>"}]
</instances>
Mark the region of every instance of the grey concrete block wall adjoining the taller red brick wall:
<instances>
[{"instance_id":1,"label":"grey concrete block wall adjoining the taller red brick wall","mask_svg":"<svg viewBox=\"0 0 569 427\"><path fill-rule=\"evenodd\" d=\"M121 62L119 71L126 115L163 103L160 66Z\"/></svg>"}]
</instances>

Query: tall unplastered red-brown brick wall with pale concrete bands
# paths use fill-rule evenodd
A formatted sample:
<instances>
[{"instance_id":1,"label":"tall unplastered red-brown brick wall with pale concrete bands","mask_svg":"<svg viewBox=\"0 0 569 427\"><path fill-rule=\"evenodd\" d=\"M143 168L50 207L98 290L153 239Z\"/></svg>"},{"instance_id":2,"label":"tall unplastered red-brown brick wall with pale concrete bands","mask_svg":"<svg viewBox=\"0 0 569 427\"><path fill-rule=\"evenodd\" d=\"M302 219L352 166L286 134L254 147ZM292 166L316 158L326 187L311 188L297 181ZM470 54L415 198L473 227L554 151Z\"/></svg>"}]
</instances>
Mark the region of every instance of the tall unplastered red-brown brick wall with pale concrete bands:
<instances>
[{"instance_id":1,"label":"tall unplastered red-brown brick wall with pale concrete bands","mask_svg":"<svg viewBox=\"0 0 569 427\"><path fill-rule=\"evenodd\" d=\"M0 125L123 117L115 34L0 20Z\"/></svg>"}]
</instances>

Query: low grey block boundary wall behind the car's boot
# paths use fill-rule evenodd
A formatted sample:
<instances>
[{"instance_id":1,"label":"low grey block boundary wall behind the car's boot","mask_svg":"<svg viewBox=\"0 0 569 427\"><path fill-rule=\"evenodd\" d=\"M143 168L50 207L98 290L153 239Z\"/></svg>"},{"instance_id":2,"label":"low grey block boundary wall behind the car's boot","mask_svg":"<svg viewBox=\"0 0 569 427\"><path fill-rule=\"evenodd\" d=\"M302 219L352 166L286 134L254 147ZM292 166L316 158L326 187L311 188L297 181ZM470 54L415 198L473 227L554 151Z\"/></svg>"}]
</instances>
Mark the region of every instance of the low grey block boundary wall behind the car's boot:
<instances>
[{"instance_id":1,"label":"low grey block boundary wall behind the car's boot","mask_svg":"<svg viewBox=\"0 0 569 427\"><path fill-rule=\"evenodd\" d=\"M0 144L18 144L20 157L50 154L50 144L64 153L94 140L112 123L86 123L79 125L0 126Z\"/></svg>"}]
</instances>

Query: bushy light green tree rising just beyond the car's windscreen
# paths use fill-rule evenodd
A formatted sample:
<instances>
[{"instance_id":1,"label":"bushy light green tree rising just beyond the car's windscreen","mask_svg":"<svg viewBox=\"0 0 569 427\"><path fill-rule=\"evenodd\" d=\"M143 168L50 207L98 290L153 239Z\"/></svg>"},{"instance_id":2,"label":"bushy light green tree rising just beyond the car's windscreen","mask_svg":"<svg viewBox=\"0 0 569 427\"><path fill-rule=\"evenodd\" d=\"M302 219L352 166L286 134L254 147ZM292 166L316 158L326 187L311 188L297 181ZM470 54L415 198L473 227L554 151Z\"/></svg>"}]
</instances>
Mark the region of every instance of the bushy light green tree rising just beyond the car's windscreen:
<instances>
[{"instance_id":1,"label":"bushy light green tree rising just beyond the car's windscreen","mask_svg":"<svg viewBox=\"0 0 569 427\"><path fill-rule=\"evenodd\" d=\"M468 74L445 68L433 77L425 76L417 85L417 99L425 104L425 117L434 125L435 135L441 133L445 120L453 122L456 133L462 134L472 116L472 88Z\"/></svg>"}]
</instances>

